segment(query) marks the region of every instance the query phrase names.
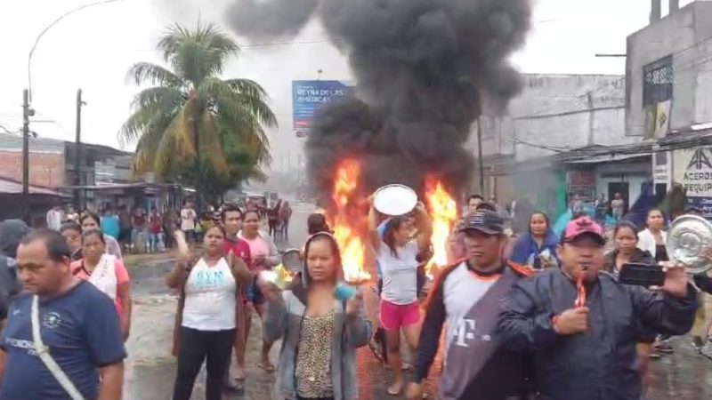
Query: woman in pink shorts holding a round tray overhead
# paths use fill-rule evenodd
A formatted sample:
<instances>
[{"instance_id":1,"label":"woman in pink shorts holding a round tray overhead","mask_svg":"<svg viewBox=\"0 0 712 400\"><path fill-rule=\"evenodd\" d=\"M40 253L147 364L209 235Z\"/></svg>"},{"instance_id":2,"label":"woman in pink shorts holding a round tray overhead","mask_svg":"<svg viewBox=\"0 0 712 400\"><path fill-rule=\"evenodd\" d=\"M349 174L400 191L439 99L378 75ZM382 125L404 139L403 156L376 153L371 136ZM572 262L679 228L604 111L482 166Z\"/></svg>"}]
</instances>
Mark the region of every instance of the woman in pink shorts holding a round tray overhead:
<instances>
[{"instance_id":1,"label":"woman in pink shorts holding a round tray overhead","mask_svg":"<svg viewBox=\"0 0 712 400\"><path fill-rule=\"evenodd\" d=\"M378 235L378 215L371 205L368 229L371 249L381 268L380 323L385 330L388 364L393 372L393 383L388 393L398 396L403 388L401 369L401 330L409 347L415 352L420 334L420 309L417 303L417 255L426 249L433 233L432 222L425 206L416 208L418 234L410 239L410 229L404 217L392 217L385 223L383 240Z\"/></svg>"}]
</instances>

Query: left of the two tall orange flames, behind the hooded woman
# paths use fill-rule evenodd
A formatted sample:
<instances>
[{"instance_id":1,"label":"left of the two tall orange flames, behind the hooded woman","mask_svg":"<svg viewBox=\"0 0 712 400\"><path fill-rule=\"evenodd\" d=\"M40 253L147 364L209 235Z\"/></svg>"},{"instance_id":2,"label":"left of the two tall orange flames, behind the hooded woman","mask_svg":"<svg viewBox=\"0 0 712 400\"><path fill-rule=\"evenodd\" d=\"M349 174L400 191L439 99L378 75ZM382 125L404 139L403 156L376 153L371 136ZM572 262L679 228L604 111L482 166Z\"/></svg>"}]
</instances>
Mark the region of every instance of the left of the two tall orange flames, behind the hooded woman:
<instances>
[{"instance_id":1,"label":"left of the two tall orange flames, behind the hooded woman","mask_svg":"<svg viewBox=\"0 0 712 400\"><path fill-rule=\"evenodd\" d=\"M351 199L356 196L359 186L361 165L358 160L346 159L336 169L332 200L336 212L330 216L334 237L341 248L342 267L346 282L368 281L370 275L364 270L364 246L359 236L358 220L362 218L358 210L353 211ZM353 215L353 217L352 217Z\"/></svg>"}]
</instances>

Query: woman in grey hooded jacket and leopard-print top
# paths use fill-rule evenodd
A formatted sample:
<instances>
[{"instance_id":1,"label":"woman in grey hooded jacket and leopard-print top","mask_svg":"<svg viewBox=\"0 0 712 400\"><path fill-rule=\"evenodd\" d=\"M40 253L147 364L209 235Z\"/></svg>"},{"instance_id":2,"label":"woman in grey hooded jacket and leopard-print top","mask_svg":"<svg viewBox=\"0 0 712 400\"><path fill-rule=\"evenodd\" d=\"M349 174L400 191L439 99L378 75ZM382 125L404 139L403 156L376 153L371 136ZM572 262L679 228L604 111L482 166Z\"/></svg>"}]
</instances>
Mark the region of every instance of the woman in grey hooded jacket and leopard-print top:
<instances>
[{"instance_id":1,"label":"woman in grey hooded jacket and leopard-print top","mask_svg":"<svg viewBox=\"0 0 712 400\"><path fill-rule=\"evenodd\" d=\"M336 298L342 276L336 239L320 232L307 240L304 268L291 289L280 293L260 283L268 301L264 338L283 340L278 385L286 399L359 398L356 349L368 344L372 328L361 293L350 300ZM325 338L331 338L330 346Z\"/></svg>"}]
</instances>

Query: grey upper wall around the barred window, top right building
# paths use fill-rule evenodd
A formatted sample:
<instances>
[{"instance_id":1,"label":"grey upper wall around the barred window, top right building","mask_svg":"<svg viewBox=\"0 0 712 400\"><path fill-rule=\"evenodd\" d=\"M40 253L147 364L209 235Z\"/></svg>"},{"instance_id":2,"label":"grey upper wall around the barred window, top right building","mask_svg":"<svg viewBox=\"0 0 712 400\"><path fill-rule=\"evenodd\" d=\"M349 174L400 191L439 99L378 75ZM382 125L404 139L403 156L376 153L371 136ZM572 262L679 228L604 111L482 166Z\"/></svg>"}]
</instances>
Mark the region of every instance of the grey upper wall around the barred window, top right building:
<instances>
[{"instance_id":1,"label":"grey upper wall around the barred window, top right building","mask_svg":"<svg viewBox=\"0 0 712 400\"><path fill-rule=\"evenodd\" d=\"M694 2L627 38L627 134L646 133L643 68L673 56L670 130L712 121L712 2Z\"/></svg>"}]
</instances>

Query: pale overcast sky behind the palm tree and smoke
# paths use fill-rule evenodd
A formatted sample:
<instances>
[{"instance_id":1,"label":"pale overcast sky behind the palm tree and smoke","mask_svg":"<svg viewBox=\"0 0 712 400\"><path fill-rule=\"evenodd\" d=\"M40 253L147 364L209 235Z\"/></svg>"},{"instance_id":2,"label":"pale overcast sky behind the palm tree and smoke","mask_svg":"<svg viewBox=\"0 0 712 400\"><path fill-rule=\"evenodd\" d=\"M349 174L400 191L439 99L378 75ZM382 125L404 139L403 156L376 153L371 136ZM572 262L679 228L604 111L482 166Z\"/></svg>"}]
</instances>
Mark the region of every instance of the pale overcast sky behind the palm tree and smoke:
<instances>
[{"instance_id":1,"label":"pale overcast sky behind the palm tree and smoke","mask_svg":"<svg viewBox=\"0 0 712 400\"><path fill-rule=\"evenodd\" d=\"M2 74L0 130L21 125L22 89L28 82L28 52L48 23L95 0L3 0L0 2ZM359 0L353 0L359 1ZM126 81L138 61L159 62L155 44L166 24L215 22L228 29L223 9L229 0L124 0L77 12L53 27L32 60L32 129L47 137L74 140L75 97L84 90L84 140L118 146L117 132L139 88ZM691 3L682 0L681 4ZM624 74L624 59L596 59L596 52L626 52L626 36L648 21L650 0L534 0L533 30L514 63L523 72ZM663 0L663 13L667 1ZM255 79L271 96L279 132L271 132L273 167L297 163L301 141L291 129L291 81L348 80L342 54L324 39L323 28L310 24L293 44L250 45L225 76ZM313 43L313 42L317 43ZM306 42L306 43L305 43ZM312 43L309 43L312 42ZM126 149L133 149L134 146Z\"/></svg>"}]
</instances>

